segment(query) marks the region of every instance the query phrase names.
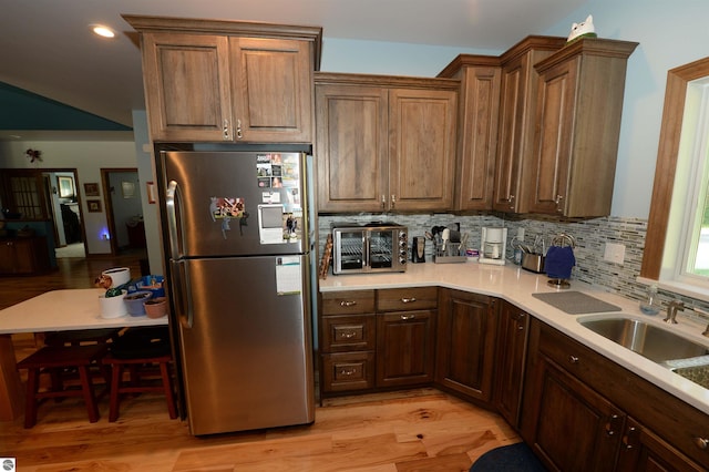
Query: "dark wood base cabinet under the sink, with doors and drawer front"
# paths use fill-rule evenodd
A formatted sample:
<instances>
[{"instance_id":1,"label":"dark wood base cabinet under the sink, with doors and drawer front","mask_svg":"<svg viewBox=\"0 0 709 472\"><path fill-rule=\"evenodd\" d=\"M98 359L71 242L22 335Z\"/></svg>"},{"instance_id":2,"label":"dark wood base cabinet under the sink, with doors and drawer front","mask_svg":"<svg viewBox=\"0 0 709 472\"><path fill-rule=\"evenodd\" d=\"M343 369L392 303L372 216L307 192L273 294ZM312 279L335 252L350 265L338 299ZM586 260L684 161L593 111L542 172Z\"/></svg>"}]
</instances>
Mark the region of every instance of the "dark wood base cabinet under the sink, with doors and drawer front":
<instances>
[{"instance_id":1,"label":"dark wood base cabinet under the sink, with doors and drawer front","mask_svg":"<svg viewBox=\"0 0 709 472\"><path fill-rule=\"evenodd\" d=\"M709 469L709 415L536 319L521 432L555 471Z\"/></svg>"}]
</instances>

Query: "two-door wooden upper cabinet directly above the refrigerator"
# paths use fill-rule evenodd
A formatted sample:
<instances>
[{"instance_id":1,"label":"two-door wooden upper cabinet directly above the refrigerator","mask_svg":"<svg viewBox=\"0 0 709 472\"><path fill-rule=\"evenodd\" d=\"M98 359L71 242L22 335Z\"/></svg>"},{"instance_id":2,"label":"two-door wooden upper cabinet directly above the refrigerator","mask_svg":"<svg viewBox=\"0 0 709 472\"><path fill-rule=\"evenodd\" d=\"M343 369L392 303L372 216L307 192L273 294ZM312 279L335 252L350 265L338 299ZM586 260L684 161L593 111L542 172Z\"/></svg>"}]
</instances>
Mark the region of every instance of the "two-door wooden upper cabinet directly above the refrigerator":
<instances>
[{"instance_id":1,"label":"two-door wooden upper cabinet directly above the refrigerator","mask_svg":"<svg viewBox=\"0 0 709 472\"><path fill-rule=\"evenodd\" d=\"M142 37L154 141L312 141L320 28L124 18Z\"/></svg>"}]
</instances>

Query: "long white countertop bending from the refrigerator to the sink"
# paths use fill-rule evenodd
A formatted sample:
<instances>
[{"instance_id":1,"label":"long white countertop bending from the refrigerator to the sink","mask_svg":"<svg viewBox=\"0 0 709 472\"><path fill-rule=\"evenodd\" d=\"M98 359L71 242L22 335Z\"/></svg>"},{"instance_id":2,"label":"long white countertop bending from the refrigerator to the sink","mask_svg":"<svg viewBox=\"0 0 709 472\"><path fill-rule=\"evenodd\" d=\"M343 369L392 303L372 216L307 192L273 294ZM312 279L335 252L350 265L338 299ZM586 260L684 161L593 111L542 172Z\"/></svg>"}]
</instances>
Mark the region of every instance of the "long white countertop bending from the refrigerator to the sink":
<instances>
[{"instance_id":1,"label":"long white countertop bending from the refrigerator to the sink","mask_svg":"<svg viewBox=\"0 0 709 472\"><path fill-rule=\"evenodd\" d=\"M544 274L533 274L518 266L493 266L467 261L464 264L410 264L405 273L380 273L339 275L328 274L328 278L320 280L320 291L363 290L372 288L405 288L439 286L476 294L503 298L530 315L558 329L559 331L588 346L616 363L639 374L669 393L678 397L695 408L709 414L709 390L680 377L668 369L637 355L615 342L584 328L577 320L583 317L599 317L592 315L568 315L553 306L533 297L535 293L561 291L547 285L548 278ZM582 291L595 298L616 305L621 312L631 315L643 321L661 325L664 314L657 316L643 315L638 302L608 294L598 287L571 281L569 290ZM617 316L618 311L609 312L608 317ZM682 317L678 314L677 325L671 327L681 336L709 348L709 338L701 336L705 326Z\"/></svg>"}]
</instances>

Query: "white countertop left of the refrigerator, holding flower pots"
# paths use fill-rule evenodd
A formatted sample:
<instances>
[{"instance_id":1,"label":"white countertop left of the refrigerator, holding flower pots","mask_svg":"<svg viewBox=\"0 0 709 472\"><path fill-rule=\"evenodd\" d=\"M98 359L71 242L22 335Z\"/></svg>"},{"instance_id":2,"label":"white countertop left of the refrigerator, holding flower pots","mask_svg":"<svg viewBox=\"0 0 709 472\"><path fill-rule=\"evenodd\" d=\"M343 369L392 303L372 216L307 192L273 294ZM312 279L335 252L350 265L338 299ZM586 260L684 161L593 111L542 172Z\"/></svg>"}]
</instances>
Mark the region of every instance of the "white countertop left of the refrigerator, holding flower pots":
<instances>
[{"instance_id":1,"label":"white countertop left of the refrigerator, holding flower pots","mask_svg":"<svg viewBox=\"0 0 709 472\"><path fill-rule=\"evenodd\" d=\"M167 317L103 318L99 306L99 296L103 294L103 288L81 288L38 295L0 310L0 335L167 325Z\"/></svg>"}]
</instances>

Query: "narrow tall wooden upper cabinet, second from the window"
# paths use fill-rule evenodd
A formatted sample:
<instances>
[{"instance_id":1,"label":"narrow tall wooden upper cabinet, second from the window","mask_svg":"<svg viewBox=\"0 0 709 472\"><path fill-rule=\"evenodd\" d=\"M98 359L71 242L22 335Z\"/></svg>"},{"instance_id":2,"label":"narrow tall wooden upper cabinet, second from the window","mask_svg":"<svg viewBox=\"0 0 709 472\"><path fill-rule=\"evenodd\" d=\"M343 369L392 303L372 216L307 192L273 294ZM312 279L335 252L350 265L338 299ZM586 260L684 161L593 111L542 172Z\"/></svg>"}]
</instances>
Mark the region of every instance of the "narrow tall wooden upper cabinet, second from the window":
<instances>
[{"instance_id":1,"label":"narrow tall wooden upper cabinet, second from the window","mask_svg":"<svg viewBox=\"0 0 709 472\"><path fill-rule=\"evenodd\" d=\"M538 75L534 64L566 44L565 38L527 37L502 54L500 127L493 209L527 212Z\"/></svg>"}]
</instances>

